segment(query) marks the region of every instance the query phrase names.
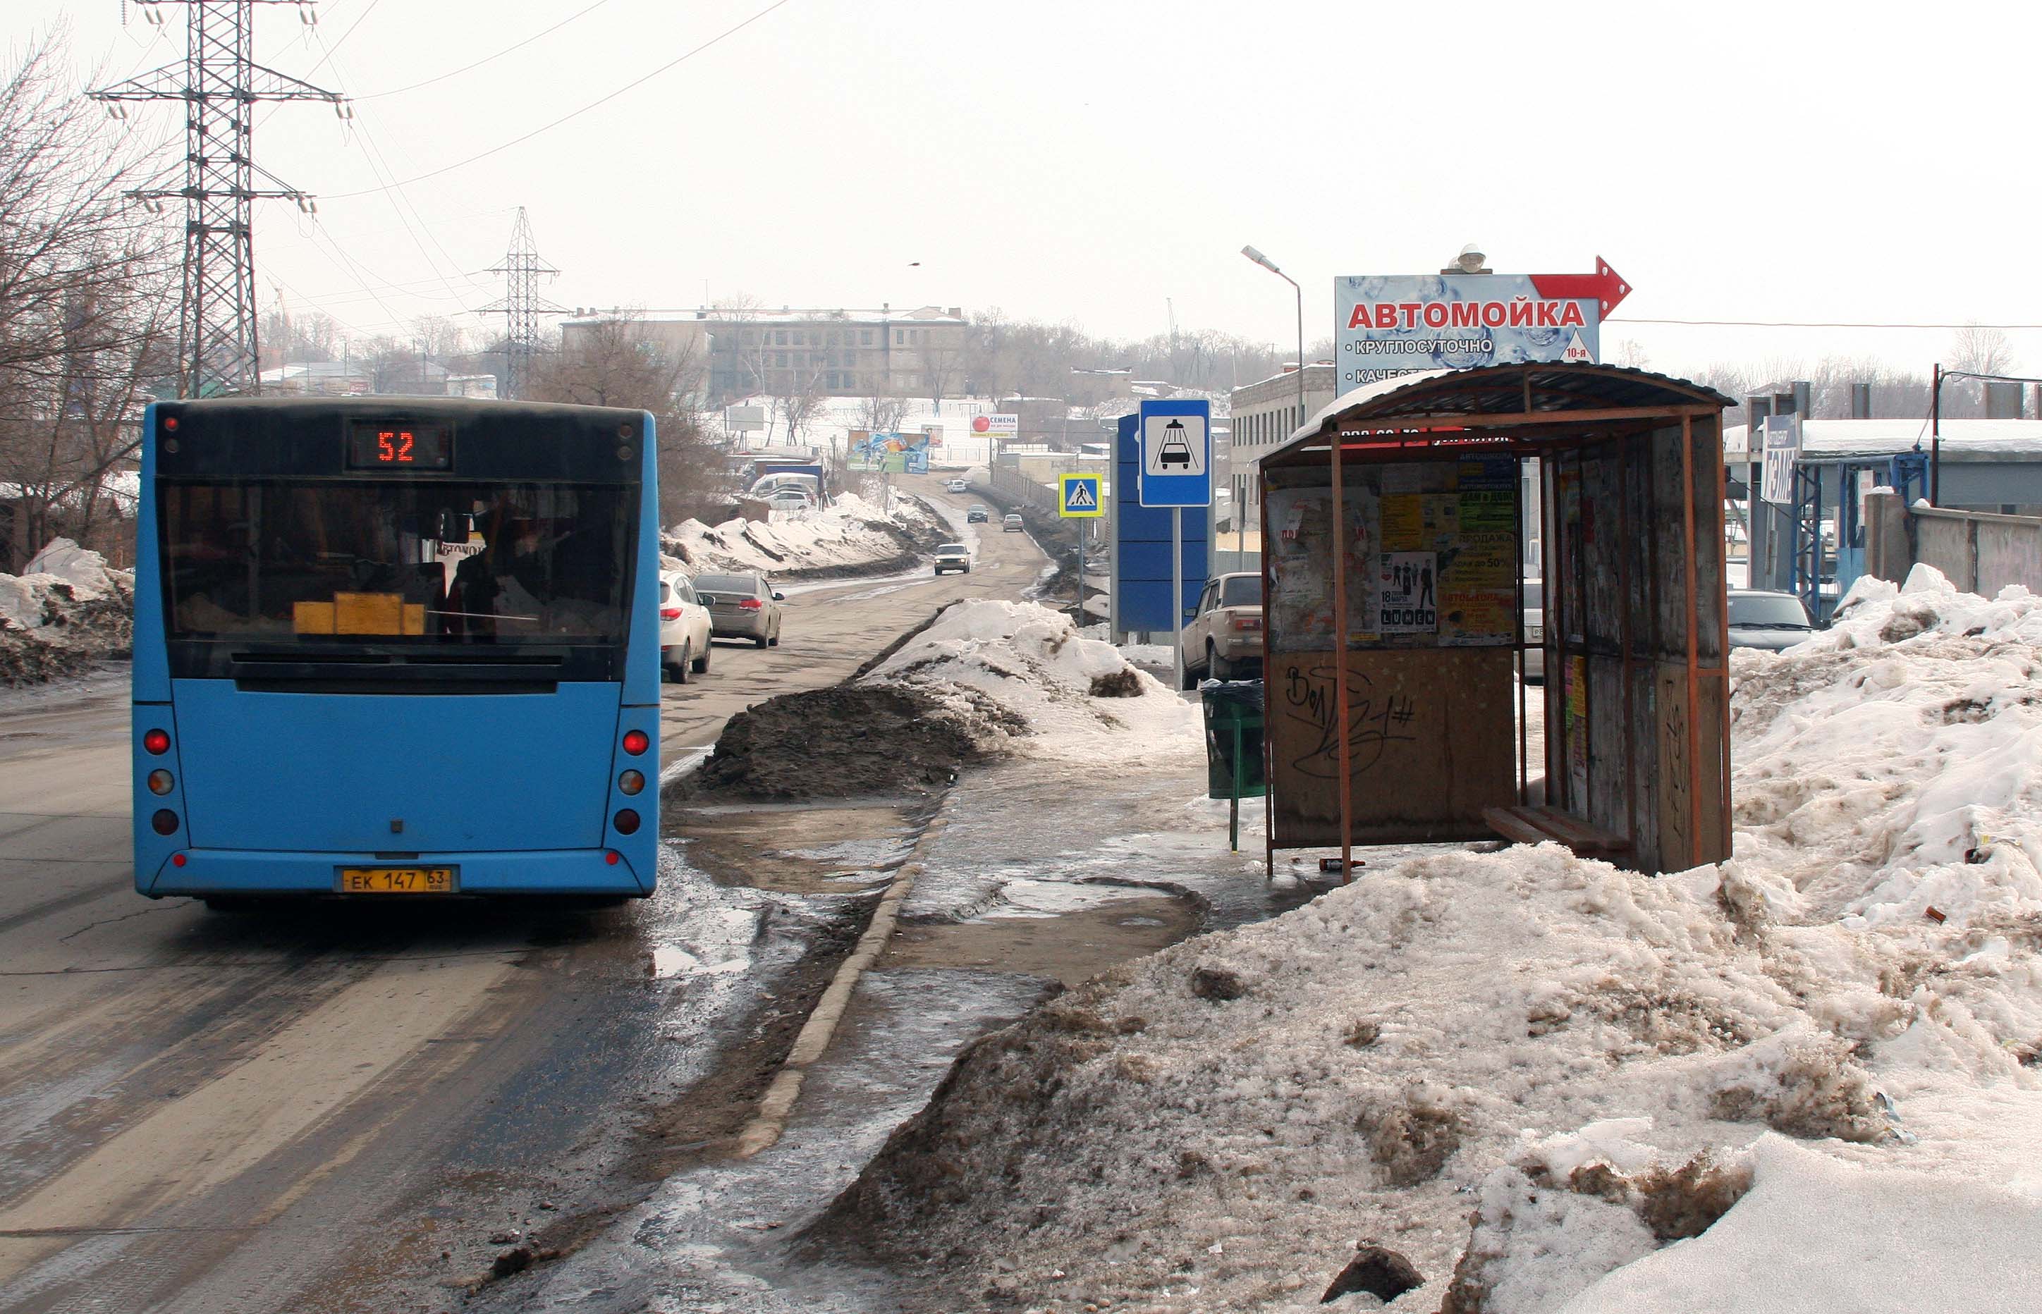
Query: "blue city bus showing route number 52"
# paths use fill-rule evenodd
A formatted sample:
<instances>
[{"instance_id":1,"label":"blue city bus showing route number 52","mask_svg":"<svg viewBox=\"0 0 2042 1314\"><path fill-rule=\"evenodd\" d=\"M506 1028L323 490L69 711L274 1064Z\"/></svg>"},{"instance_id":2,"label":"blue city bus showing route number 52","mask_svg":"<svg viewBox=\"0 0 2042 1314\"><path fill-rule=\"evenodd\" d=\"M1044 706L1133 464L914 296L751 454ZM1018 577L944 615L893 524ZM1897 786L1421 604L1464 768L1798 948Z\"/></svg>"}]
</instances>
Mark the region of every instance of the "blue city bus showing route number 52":
<instances>
[{"instance_id":1,"label":"blue city bus showing route number 52","mask_svg":"<svg viewBox=\"0 0 2042 1314\"><path fill-rule=\"evenodd\" d=\"M141 894L651 894L649 414L157 402L141 451Z\"/></svg>"}]
</instances>

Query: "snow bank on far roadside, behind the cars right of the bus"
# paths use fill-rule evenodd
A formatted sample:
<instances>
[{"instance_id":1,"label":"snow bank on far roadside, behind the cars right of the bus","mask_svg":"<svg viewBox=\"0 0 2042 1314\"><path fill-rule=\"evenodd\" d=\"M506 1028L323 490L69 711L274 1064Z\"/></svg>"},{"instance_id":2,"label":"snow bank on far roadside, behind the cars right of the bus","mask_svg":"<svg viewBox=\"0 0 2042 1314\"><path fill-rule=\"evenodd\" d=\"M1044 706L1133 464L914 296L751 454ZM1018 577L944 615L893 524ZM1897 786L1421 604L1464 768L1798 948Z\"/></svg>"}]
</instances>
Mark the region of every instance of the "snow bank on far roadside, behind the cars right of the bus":
<instances>
[{"instance_id":1,"label":"snow bank on far roadside, behind the cars right of the bus","mask_svg":"<svg viewBox=\"0 0 2042 1314\"><path fill-rule=\"evenodd\" d=\"M662 535L662 549L690 573L758 569L780 579L825 573L868 573L915 565L923 547L947 526L913 498L890 510L843 494L829 510L805 520L725 520L709 526L682 520Z\"/></svg>"}]
</instances>

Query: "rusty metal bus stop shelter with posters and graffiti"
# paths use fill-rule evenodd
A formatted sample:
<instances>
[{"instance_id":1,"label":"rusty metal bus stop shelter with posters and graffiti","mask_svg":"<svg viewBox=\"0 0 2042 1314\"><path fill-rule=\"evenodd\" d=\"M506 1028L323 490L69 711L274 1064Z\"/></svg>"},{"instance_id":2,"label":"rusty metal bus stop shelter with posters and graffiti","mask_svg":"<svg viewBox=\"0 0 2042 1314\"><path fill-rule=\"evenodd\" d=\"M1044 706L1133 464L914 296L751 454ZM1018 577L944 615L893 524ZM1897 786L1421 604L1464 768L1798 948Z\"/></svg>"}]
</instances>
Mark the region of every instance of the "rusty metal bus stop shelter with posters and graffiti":
<instances>
[{"instance_id":1,"label":"rusty metal bus stop shelter with posters and graffiti","mask_svg":"<svg viewBox=\"0 0 2042 1314\"><path fill-rule=\"evenodd\" d=\"M1615 365L1433 369L1262 459L1272 871L1276 849L1340 845L1348 871L1358 843L1489 837L1648 873L1730 855L1730 404Z\"/></svg>"}]
</instances>

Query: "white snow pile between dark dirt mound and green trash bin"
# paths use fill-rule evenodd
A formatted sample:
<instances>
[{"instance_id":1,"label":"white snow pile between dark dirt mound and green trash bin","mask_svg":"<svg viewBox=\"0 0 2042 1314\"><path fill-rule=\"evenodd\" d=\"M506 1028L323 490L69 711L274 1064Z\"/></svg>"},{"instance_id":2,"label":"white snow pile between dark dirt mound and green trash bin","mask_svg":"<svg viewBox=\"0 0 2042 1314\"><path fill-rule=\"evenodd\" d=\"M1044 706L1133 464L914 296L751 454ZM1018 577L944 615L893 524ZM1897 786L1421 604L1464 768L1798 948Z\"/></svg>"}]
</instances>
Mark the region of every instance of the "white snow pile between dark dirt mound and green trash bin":
<instances>
[{"instance_id":1,"label":"white snow pile between dark dirt mound and green trash bin","mask_svg":"<svg viewBox=\"0 0 2042 1314\"><path fill-rule=\"evenodd\" d=\"M947 606L862 684L898 686L943 704L990 700L1025 722L1021 751L1037 757L1205 751L1199 708L1131 667L1111 643L1084 639L1070 616L1035 602Z\"/></svg>"}]
</instances>

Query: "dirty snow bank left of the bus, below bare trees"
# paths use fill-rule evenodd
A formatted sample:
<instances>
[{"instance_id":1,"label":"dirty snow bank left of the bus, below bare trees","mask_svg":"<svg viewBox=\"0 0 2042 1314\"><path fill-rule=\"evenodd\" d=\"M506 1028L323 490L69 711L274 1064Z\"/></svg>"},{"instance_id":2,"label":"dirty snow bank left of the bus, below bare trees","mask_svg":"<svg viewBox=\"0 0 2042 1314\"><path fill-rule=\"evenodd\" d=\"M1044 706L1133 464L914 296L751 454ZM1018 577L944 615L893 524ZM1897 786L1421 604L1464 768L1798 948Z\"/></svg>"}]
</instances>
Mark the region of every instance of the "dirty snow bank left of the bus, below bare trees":
<instances>
[{"instance_id":1,"label":"dirty snow bank left of the bus, below bare trees","mask_svg":"<svg viewBox=\"0 0 2042 1314\"><path fill-rule=\"evenodd\" d=\"M69 539L51 539L20 575L0 573L0 686L78 675L127 655L135 573Z\"/></svg>"}]
</instances>

